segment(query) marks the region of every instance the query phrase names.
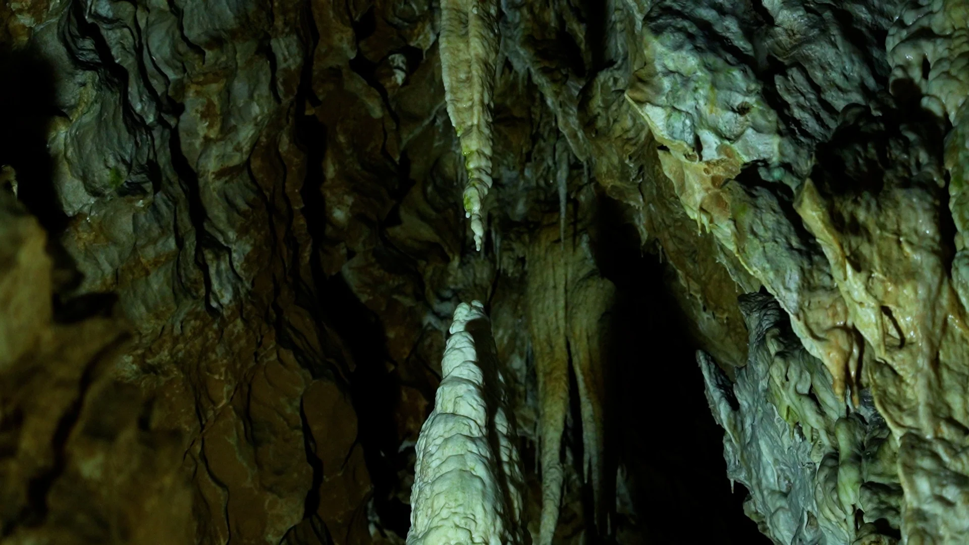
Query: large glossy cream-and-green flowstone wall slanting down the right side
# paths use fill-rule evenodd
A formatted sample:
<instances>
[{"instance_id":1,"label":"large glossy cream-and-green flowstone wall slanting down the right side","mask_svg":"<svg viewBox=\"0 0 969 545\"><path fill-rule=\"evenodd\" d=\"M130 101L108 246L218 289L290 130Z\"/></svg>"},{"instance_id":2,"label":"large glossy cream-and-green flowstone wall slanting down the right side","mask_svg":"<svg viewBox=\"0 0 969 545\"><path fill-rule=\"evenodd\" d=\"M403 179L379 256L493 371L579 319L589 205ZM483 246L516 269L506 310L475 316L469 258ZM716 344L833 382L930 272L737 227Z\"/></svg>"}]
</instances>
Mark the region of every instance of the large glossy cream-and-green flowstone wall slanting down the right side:
<instances>
[{"instance_id":1,"label":"large glossy cream-and-green flowstone wall slanting down the right side","mask_svg":"<svg viewBox=\"0 0 969 545\"><path fill-rule=\"evenodd\" d=\"M969 482L959 454L969 446L967 10L946 0L654 2L625 93L684 209L776 298L828 370L834 399L846 399L849 420L838 422L863 419L866 402L884 417L897 462L879 471L904 490L900 515L886 520L909 543L969 539L956 484ZM748 368L738 380L758 372ZM842 451L858 441L848 424L835 428L827 434L850 461ZM840 512L864 497L842 473L841 507L819 499L818 524L844 528L827 532L835 542L856 538L860 526ZM766 483L752 486L763 499ZM782 527L768 533L788 542Z\"/></svg>"}]
</instances>

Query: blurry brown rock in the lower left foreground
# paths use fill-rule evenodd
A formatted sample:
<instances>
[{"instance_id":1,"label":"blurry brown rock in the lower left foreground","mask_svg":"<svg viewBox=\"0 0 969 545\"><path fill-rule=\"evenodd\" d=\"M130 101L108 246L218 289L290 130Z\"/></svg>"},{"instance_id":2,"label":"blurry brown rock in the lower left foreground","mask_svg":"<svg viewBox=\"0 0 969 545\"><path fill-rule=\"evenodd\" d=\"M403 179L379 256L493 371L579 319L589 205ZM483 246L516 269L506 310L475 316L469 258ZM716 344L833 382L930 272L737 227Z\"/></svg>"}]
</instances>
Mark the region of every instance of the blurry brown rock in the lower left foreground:
<instances>
[{"instance_id":1,"label":"blurry brown rock in the lower left foreground","mask_svg":"<svg viewBox=\"0 0 969 545\"><path fill-rule=\"evenodd\" d=\"M117 376L131 335L113 305L54 308L47 234L0 190L3 542L184 543L192 490L177 433Z\"/></svg>"}]
</instances>

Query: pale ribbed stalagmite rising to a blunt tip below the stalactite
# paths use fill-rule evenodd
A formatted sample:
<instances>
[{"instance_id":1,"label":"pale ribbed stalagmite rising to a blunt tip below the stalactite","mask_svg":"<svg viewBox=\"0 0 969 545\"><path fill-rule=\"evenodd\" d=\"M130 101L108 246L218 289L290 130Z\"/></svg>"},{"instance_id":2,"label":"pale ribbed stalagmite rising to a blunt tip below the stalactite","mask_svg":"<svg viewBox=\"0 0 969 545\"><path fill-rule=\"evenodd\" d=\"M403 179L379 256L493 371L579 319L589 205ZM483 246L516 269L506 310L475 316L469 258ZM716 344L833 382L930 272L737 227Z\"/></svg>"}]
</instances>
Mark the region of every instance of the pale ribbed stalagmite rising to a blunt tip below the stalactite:
<instances>
[{"instance_id":1,"label":"pale ribbed stalagmite rising to a blunt tip below the stalactite","mask_svg":"<svg viewBox=\"0 0 969 545\"><path fill-rule=\"evenodd\" d=\"M450 333L418 439L407 543L516 545L521 466L484 305L458 305Z\"/></svg>"}]
</instances>

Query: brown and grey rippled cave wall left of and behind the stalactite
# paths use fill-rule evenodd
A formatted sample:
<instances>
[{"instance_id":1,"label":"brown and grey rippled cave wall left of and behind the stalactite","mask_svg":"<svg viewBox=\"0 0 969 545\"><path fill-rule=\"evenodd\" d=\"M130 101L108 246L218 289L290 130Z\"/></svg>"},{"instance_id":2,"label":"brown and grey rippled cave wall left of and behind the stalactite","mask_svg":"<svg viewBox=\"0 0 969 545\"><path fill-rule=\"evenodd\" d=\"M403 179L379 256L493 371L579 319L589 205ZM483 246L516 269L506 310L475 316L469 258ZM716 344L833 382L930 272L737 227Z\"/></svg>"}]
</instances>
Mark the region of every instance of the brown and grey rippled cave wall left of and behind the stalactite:
<instances>
[{"instance_id":1,"label":"brown and grey rippled cave wall left of and behind the stalactite","mask_svg":"<svg viewBox=\"0 0 969 545\"><path fill-rule=\"evenodd\" d=\"M25 86L5 91L0 162L70 265L58 297L117 294L135 335L113 371L153 400L146 426L181 437L195 539L405 534L454 306L520 277L527 226L559 207L549 179L592 187L534 83L508 67L496 88L516 191L490 259L453 208L429 5L4 10ZM527 347L499 344L524 414Z\"/></svg>"}]
</instances>

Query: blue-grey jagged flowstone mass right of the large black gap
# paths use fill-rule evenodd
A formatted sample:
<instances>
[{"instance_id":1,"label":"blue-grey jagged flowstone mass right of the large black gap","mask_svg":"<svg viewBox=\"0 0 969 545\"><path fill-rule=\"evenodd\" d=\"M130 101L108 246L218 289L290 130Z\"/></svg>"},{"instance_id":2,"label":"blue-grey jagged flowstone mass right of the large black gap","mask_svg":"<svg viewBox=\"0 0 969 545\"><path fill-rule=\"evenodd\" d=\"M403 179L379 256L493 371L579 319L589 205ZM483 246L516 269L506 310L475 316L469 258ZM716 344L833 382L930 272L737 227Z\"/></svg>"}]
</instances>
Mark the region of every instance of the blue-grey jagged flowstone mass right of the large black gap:
<instances>
[{"instance_id":1,"label":"blue-grey jagged flowstone mass right of the large black gap","mask_svg":"<svg viewBox=\"0 0 969 545\"><path fill-rule=\"evenodd\" d=\"M778 543L894 543L901 485L896 446L867 392L846 414L828 369L801 346L766 294L741 299L750 346L736 382L697 354L724 436L727 475L745 511Z\"/></svg>"}]
</instances>

